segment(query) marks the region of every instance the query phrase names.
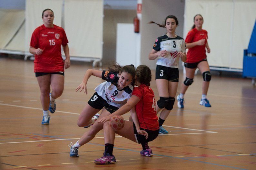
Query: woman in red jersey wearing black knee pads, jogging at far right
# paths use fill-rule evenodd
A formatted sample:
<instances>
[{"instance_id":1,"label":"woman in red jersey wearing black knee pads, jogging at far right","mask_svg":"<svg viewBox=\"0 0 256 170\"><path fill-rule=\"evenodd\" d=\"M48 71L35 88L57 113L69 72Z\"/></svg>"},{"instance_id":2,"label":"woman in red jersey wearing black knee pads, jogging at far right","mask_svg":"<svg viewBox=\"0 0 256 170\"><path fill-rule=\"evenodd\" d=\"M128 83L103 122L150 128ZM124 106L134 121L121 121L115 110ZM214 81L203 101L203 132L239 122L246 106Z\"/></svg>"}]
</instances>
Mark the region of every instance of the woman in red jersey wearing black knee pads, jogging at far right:
<instances>
[{"instance_id":1,"label":"woman in red jersey wearing black knee pads, jogging at far right","mask_svg":"<svg viewBox=\"0 0 256 170\"><path fill-rule=\"evenodd\" d=\"M211 50L207 42L207 31L202 29L202 24L202 15L195 15L192 30L188 32L188 35L185 39L186 48L188 48L189 50L187 53L187 60L184 63L186 69L186 79L182 84L180 94L177 96L177 105L179 108L184 108L183 97L186 90L193 82L196 68L200 70L203 76L202 98L199 104L205 107L211 107L209 100L206 98L206 95L212 75L210 73L209 64L207 62L205 54L206 50L207 53L210 53Z\"/></svg>"}]
</instances>

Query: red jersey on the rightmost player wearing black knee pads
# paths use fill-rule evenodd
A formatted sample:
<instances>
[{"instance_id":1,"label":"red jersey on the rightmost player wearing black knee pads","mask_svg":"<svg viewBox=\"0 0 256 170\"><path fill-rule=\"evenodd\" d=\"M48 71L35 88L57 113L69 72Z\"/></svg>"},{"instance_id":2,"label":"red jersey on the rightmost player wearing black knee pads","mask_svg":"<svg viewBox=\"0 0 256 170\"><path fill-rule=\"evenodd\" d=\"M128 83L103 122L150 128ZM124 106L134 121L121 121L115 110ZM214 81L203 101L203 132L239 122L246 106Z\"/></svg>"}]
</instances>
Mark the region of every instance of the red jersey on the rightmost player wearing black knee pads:
<instances>
[{"instance_id":1,"label":"red jersey on the rightmost player wearing black knee pads","mask_svg":"<svg viewBox=\"0 0 256 170\"><path fill-rule=\"evenodd\" d=\"M205 39L205 43L203 46L195 46L189 48L186 63L196 63L206 58L205 44L207 43L207 38L208 35L206 30L199 31L194 28L188 32L188 35L185 39L186 43L196 42L200 39Z\"/></svg>"}]
</instances>

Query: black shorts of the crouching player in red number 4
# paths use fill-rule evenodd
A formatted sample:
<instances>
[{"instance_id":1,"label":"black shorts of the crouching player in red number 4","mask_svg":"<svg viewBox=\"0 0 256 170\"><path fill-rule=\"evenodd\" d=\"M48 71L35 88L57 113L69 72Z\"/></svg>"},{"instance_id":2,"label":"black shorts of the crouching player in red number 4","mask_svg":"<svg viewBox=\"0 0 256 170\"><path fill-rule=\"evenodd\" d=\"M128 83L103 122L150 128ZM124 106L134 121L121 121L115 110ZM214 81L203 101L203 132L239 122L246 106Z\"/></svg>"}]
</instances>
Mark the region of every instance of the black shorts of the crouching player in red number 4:
<instances>
[{"instance_id":1,"label":"black shorts of the crouching player in red number 4","mask_svg":"<svg viewBox=\"0 0 256 170\"><path fill-rule=\"evenodd\" d=\"M151 131L151 130L143 129L143 128L140 128L140 129L143 131L146 131L148 133L148 139L146 139L146 137L144 135L138 134L135 124L133 123L133 131L134 131L134 135L135 135L137 143L150 142L150 141L154 140L159 134L159 129L156 131Z\"/></svg>"}]
</instances>

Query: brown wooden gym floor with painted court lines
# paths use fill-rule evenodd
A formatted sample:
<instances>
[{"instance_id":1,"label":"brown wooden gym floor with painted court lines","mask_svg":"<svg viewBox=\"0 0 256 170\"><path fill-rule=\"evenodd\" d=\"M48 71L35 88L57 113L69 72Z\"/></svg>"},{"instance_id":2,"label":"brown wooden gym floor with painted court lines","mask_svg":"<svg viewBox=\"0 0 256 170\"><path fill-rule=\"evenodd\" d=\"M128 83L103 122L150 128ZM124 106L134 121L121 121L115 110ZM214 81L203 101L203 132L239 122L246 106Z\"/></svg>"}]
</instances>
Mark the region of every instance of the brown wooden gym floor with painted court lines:
<instances>
[{"instance_id":1,"label":"brown wooden gym floor with painted court lines","mask_svg":"<svg viewBox=\"0 0 256 170\"><path fill-rule=\"evenodd\" d=\"M88 131L76 125L78 115L103 82L91 77L88 95L75 92L89 68L88 63L71 64L50 125L41 125L33 62L0 58L0 169L256 169L256 89L250 79L217 74L207 96L211 108L199 105L200 74L185 95L185 108L178 109L175 101L164 123L169 135L149 143L153 157L141 156L141 145L116 136L117 163L95 165L92 161L104 151L103 131L79 149L79 157L69 157L68 144ZM151 87L159 98L152 72ZM178 92L183 79L180 73ZM128 119L129 113L123 117Z\"/></svg>"}]
</instances>

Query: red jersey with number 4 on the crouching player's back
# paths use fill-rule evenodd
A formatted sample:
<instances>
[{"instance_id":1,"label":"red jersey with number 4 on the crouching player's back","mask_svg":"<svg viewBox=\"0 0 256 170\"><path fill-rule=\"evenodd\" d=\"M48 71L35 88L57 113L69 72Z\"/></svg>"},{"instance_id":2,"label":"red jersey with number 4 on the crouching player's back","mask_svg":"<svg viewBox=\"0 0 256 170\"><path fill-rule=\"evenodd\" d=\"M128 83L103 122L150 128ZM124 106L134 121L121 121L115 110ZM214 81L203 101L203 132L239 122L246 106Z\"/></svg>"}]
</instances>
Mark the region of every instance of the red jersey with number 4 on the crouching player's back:
<instances>
[{"instance_id":1,"label":"red jersey with number 4 on the crouching player's back","mask_svg":"<svg viewBox=\"0 0 256 170\"><path fill-rule=\"evenodd\" d=\"M159 129L153 90L149 86L141 84L139 87L134 86L132 95L140 98L139 103L135 106L140 127L152 131Z\"/></svg>"}]
</instances>

